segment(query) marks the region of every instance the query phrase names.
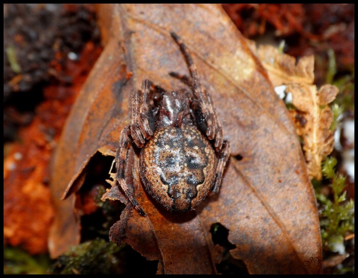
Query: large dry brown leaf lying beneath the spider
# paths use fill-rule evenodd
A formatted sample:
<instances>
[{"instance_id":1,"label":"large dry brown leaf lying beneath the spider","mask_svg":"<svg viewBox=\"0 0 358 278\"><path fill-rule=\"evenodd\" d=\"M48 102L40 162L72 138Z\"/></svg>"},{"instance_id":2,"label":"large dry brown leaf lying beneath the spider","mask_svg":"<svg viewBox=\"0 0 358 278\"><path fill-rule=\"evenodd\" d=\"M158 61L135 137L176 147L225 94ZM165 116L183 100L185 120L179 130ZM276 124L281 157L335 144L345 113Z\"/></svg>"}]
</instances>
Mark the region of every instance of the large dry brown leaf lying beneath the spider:
<instances>
[{"instance_id":1,"label":"large dry brown leaf lying beneath the spider","mask_svg":"<svg viewBox=\"0 0 358 278\"><path fill-rule=\"evenodd\" d=\"M232 256L243 260L250 273L318 273L319 266L303 265L312 256L322 258L322 250L316 199L295 128L266 71L225 12L217 5L173 4L114 5L110 10L108 44L77 99L57 151L55 169L62 169L54 172L57 196L66 187L68 194L77 190L73 182L97 150L114 154L120 131L129 122L130 93L144 79L166 90L183 87L168 74L189 74L170 36L175 32L212 96L232 157L218 195L208 197L195 212L170 214L144 192L138 154L131 148L132 171L126 172L146 216L128 203L111 228L111 241L128 242L148 259L159 260L158 273L216 273L217 248L209 231L220 222L236 245ZM128 82L125 72L132 73ZM121 84L116 93L114 84ZM107 197L123 196L112 188ZM57 220L53 230L63 231L64 224ZM71 226L74 237L76 229ZM61 252L58 246L53 250Z\"/></svg>"}]
</instances>

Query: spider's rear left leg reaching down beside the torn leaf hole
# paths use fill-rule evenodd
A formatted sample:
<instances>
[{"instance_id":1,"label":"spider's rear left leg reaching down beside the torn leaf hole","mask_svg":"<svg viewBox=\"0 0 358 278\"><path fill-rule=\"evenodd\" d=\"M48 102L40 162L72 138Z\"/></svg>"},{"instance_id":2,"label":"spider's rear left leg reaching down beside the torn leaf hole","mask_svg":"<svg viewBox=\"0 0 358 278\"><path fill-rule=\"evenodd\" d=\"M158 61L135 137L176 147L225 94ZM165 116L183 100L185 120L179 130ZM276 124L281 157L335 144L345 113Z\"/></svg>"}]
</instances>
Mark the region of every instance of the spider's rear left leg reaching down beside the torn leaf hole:
<instances>
[{"instance_id":1,"label":"spider's rear left leg reaching down beside the torn leaf hole","mask_svg":"<svg viewBox=\"0 0 358 278\"><path fill-rule=\"evenodd\" d=\"M127 161L128 148L130 146L129 135L129 125L126 125L126 127L121 132L119 146L116 154L116 179L118 181L119 186L122 188L124 195L128 198L133 207L135 207L135 209L139 212L140 215L145 216L145 212L139 205L136 197L133 195L134 186L132 184L127 185L126 183L125 166Z\"/></svg>"}]
</instances>

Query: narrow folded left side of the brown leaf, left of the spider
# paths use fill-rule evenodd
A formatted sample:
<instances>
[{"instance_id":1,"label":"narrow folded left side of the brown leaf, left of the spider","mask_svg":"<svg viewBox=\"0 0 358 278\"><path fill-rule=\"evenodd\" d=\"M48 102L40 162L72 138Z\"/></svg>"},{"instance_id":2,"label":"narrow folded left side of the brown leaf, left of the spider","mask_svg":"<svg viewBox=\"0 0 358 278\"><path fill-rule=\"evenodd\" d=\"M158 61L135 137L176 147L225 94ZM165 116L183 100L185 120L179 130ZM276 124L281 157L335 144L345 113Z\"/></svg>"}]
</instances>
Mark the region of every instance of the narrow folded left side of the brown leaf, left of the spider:
<instances>
[{"instance_id":1,"label":"narrow folded left side of the brown leaf, left of the spider","mask_svg":"<svg viewBox=\"0 0 358 278\"><path fill-rule=\"evenodd\" d=\"M70 193L82 186L83 169L97 150L104 155L114 155L118 134L128 123L127 116L121 118L128 115L129 93L122 92L127 79L119 50L115 41L106 45L76 99L57 145L51 182L57 217L49 237L49 250L53 257L80 242L80 215L74 213L75 196L61 200L67 185L72 185ZM113 55L118 59L109 59Z\"/></svg>"}]
</instances>

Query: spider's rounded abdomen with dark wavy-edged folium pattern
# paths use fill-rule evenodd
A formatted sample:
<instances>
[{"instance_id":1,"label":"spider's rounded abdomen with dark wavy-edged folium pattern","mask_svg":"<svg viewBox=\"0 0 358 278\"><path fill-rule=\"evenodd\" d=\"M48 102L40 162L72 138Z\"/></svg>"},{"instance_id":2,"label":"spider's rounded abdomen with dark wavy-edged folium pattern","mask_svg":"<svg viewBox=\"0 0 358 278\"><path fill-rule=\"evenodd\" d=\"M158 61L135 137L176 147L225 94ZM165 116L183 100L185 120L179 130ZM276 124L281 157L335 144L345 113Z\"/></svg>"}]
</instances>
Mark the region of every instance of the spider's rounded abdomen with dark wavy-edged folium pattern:
<instances>
[{"instance_id":1,"label":"spider's rounded abdomen with dark wavy-edged folium pattern","mask_svg":"<svg viewBox=\"0 0 358 278\"><path fill-rule=\"evenodd\" d=\"M140 178L166 210L188 211L210 191L216 163L212 145L195 127L166 127L142 148Z\"/></svg>"}]
</instances>

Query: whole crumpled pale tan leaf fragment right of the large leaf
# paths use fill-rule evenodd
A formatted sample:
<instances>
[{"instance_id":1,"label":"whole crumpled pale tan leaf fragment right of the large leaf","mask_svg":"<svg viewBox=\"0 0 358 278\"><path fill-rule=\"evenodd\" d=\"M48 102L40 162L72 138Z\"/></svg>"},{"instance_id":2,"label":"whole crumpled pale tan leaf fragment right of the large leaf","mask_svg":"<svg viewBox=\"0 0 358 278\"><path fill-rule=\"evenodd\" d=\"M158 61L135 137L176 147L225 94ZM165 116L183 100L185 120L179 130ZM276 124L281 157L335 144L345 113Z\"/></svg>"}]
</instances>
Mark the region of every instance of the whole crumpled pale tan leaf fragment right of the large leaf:
<instances>
[{"instance_id":1,"label":"whole crumpled pale tan leaf fragment right of the large leaf","mask_svg":"<svg viewBox=\"0 0 358 278\"><path fill-rule=\"evenodd\" d=\"M339 90L333 85L324 85L318 91L314 82L314 56L296 58L280 53L276 47L249 43L251 50L260 59L269 74L273 86L286 85L286 92L293 97L296 109L289 113L296 131L303 140L303 151L310 178L322 179L322 160L334 146L333 120L328 106Z\"/></svg>"}]
</instances>

